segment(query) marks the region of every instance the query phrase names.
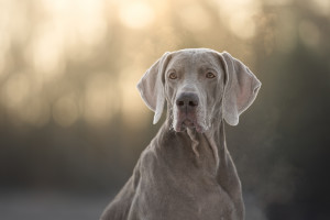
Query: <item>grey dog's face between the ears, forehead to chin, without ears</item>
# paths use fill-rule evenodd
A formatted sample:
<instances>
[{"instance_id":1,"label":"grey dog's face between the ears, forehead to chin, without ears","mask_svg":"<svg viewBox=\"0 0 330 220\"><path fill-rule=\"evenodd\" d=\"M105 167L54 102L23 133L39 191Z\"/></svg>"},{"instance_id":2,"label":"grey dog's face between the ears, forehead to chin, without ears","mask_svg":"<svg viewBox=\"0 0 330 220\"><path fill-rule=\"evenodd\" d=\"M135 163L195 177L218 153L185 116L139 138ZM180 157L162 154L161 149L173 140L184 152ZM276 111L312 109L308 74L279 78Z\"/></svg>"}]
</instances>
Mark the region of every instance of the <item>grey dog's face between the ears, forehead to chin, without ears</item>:
<instances>
[{"instance_id":1,"label":"grey dog's face between the ears, forehead to chin, without ears","mask_svg":"<svg viewBox=\"0 0 330 220\"><path fill-rule=\"evenodd\" d=\"M216 53L177 52L164 73L165 98L176 132L207 131L220 116L224 72Z\"/></svg>"}]
</instances>

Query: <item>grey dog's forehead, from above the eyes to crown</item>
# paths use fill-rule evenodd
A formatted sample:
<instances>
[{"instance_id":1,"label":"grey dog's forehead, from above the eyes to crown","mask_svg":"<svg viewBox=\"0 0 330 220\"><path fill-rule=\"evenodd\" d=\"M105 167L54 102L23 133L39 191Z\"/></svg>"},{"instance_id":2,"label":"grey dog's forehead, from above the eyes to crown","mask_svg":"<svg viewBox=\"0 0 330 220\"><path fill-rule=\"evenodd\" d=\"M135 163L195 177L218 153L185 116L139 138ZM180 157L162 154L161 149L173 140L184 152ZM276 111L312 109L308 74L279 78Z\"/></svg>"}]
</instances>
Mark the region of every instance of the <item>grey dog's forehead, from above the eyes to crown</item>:
<instances>
[{"instance_id":1,"label":"grey dog's forehead, from above the eyes to crown","mask_svg":"<svg viewBox=\"0 0 330 220\"><path fill-rule=\"evenodd\" d=\"M220 67L216 53L206 50L183 50L174 52L168 64L170 68Z\"/></svg>"}]
</instances>

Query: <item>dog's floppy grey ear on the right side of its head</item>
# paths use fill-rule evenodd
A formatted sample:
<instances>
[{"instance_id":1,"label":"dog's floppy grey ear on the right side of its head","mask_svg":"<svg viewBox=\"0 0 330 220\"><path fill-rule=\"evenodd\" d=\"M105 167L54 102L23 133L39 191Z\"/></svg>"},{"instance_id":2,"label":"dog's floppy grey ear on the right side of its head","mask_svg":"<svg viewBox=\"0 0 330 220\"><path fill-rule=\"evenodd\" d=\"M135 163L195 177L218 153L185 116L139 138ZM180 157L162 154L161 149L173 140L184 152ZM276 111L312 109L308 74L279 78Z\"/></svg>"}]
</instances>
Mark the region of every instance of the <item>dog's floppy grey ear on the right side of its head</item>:
<instances>
[{"instance_id":1,"label":"dog's floppy grey ear on the right side of its head","mask_svg":"<svg viewBox=\"0 0 330 220\"><path fill-rule=\"evenodd\" d=\"M240 114L254 101L261 82L239 59L227 52L220 55L227 78L222 102L223 118L230 125L237 125Z\"/></svg>"}]
</instances>

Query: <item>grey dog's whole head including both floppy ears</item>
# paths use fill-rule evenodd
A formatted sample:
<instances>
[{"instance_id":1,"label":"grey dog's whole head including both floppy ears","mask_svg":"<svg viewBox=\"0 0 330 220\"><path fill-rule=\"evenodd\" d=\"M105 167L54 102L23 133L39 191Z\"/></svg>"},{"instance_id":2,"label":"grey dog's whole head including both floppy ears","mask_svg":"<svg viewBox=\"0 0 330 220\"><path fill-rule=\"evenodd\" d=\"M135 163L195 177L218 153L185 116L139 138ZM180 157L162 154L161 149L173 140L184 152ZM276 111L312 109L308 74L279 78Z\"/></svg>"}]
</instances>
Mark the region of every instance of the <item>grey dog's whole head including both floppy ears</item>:
<instances>
[{"instance_id":1,"label":"grey dog's whole head including both floppy ears","mask_svg":"<svg viewBox=\"0 0 330 220\"><path fill-rule=\"evenodd\" d=\"M208 131L222 116L231 124L254 101L261 82L229 53L207 48L165 53L138 84L146 106L160 120L165 100L177 132Z\"/></svg>"}]
</instances>

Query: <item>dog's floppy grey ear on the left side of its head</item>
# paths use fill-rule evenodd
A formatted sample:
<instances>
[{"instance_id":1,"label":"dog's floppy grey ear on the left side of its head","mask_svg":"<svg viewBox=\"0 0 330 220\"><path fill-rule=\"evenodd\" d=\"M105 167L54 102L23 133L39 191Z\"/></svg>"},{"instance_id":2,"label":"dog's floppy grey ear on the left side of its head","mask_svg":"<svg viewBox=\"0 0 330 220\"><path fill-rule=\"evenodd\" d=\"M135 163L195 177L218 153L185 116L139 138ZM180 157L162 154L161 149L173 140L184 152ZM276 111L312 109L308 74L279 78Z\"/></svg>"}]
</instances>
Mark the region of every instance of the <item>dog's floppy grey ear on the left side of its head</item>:
<instances>
[{"instance_id":1,"label":"dog's floppy grey ear on the left side of its head","mask_svg":"<svg viewBox=\"0 0 330 220\"><path fill-rule=\"evenodd\" d=\"M164 72L169 62L169 54L170 53L166 52L156 63L154 63L145 72L138 84L138 89L143 101L155 112L154 124L160 121L164 109Z\"/></svg>"}]
</instances>

